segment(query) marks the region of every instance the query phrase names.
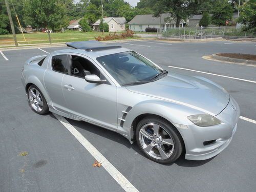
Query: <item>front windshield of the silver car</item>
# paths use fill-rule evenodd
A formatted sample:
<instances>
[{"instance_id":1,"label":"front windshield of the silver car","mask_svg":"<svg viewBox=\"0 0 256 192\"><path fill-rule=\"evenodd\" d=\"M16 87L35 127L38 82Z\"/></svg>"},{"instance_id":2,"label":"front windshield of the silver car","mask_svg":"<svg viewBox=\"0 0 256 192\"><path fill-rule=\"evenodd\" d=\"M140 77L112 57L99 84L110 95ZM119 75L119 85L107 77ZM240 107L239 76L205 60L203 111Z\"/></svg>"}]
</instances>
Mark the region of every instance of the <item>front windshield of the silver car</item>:
<instances>
[{"instance_id":1,"label":"front windshield of the silver car","mask_svg":"<svg viewBox=\"0 0 256 192\"><path fill-rule=\"evenodd\" d=\"M153 77L163 71L134 51L106 55L96 59L121 86L138 81L150 82Z\"/></svg>"}]
</instances>

